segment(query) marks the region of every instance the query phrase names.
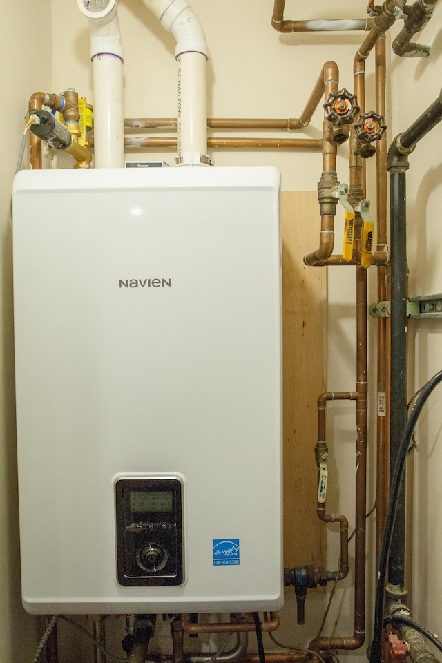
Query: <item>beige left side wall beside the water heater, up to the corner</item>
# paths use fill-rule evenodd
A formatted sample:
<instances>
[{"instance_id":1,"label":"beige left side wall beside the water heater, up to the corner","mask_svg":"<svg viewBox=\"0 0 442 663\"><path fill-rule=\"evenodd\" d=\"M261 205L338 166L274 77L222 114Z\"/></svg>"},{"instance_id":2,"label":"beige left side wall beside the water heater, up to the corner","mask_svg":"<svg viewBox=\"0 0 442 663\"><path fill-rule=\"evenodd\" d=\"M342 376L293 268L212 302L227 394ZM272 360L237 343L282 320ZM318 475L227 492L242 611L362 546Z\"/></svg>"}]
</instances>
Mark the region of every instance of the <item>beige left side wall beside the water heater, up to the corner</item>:
<instances>
[{"instance_id":1,"label":"beige left side wall beside the water heater, up to the corner","mask_svg":"<svg viewBox=\"0 0 442 663\"><path fill-rule=\"evenodd\" d=\"M8 3L0 21L0 660L32 660L37 620L20 598L10 198L28 98L50 84L50 1ZM40 620L38 620L39 622Z\"/></svg>"}]
</instances>

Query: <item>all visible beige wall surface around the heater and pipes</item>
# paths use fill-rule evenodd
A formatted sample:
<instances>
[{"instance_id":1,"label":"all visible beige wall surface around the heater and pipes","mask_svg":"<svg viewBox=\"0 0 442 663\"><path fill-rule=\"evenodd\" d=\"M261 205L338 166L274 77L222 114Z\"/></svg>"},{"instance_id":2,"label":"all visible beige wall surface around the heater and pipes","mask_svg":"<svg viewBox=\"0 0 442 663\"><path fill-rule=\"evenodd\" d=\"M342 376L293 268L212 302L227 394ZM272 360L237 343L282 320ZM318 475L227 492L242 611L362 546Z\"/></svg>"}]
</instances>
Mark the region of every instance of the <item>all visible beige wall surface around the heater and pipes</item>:
<instances>
[{"instance_id":1,"label":"all visible beige wall surface around the heater and pipes","mask_svg":"<svg viewBox=\"0 0 442 663\"><path fill-rule=\"evenodd\" d=\"M3 559L7 564L0 566L0 587L6 602L0 607L0 628L6 635L0 639L0 659L2 663L17 660L17 653L23 652L13 644L12 636L26 633L32 640L32 619L20 608L19 580L17 564L17 495L15 490L14 457L14 420L13 420L13 379L12 379L12 334L11 325L11 288L10 288L10 226L8 205L12 171L19 151L20 133L26 99L32 91L44 88L59 92L74 87L81 95L86 95L91 102L91 67L89 61L89 39L86 20L77 9L75 0L47 0L39 3L40 11L31 12L29 4L17 0L8 9L8 21L2 21L0 30L5 36L0 41L0 48L5 49L3 61L14 62L12 70L3 71L6 76L6 89L12 93L12 115L10 131L2 140L6 145L6 159L0 157L1 181L4 184L0 198L1 247L5 257L3 262L3 353L1 355L2 407L1 449L5 460L2 462L1 490L6 491L6 498L1 499L0 544L6 541L7 551ZM270 26L271 0L192 0L192 6L200 17L209 44L209 115L212 117L296 117L309 97L320 68L327 59L334 59L340 68L340 86L353 88L352 61L354 53L361 44L363 35L349 33L339 35L279 35ZM352 17L365 16L365 0L351 3ZM314 19L348 16L349 3L336 0L331 3L309 3L303 6L307 15L296 15L300 3L287 0L286 17L293 19ZM44 13L44 10L46 13ZM425 40L434 41L434 56L429 61L398 61L393 57L391 73L393 131L397 133L416 113L439 92L436 71L440 70L442 26L441 9L425 30ZM52 36L50 19L52 18ZM122 0L119 2L119 19L122 29L122 41L125 52L125 115L126 117L173 117L176 115L176 67L173 59L174 41L159 25L157 19L144 7L140 0ZM32 28L39 27L38 41L28 35ZM33 35L34 33L32 33ZM46 39L45 39L46 37ZM5 41L6 40L6 41ZM52 40L52 67L50 64L50 46ZM367 108L374 106L372 57L367 61ZM389 77L390 78L390 77ZM439 82L440 84L440 82ZM319 110L305 133L296 135L319 137L322 122ZM410 200L410 289L414 294L426 294L441 291L442 257L434 241L439 230L438 202L441 194L438 181L441 179L440 155L437 149L436 132L427 138L410 158L412 168L409 171ZM227 135L227 134L224 134ZM253 135L253 134L250 134ZM261 134L262 135L262 134ZM273 135L273 134L271 134ZM287 134L276 134L287 137ZM295 135L294 133L291 136ZM338 159L338 177L348 182L348 170L345 147ZM128 155L135 160L137 154ZM173 163L173 152L148 155ZM313 191L320 177L320 156L311 153L269 152L215 152L218 166L271 164L282 171L283 189L294 191ZM374 190L368 192L374 198ZM343 224L341 213L337 220L337 229ZM418 225L419 224L419 225ZM337 233L337 246L341 241ZM311 249L313 247L306 247ZM431 267L425 261L431 258ZM420 262L418 262L420 261ZM312 268L313 269L313 268ZM372 278L374 274L371 275ZM375 296L372 296L374 299ZM352 268L331 269L329 273L329 388L332 390L354 389L354 270ZM442 350L439 349L438 323L419 325L419 331L412 332L416 339L416 387L425 381L442 363ZM369 321L372 337L375 334L374 323ZM372 345L372 343L371 343ZM374 378L371 372L370 378ZM440 406L440 401L439 401ZM439 411L441 408L433 407ZM329 414L329 443L334 466L329 488L329 506L331 510L343 511L349 517L350 528L353 517L354 490L354 408L334 405ZM4 413L4 414L3 414ZM416 538L415 557L425 559L426 568L414 575L414 603L416 617L430 628L436 628L434 614L440 612L442 595L442 573L436 568L437 544L441 544L440 528L435 523L441 522L438 512L440 501L434 499L434 490L428 488L427 466L432 465L434 478L431 486L438 486L436 468L442 466L440 450L434 443L441 421L437 416L429 417L423 425L420 442L423 452L419 454L419 466L416 466L416 512L420 517L414 519ZM428 439L428 443L427 440ZM370 432L370 447L374 436ZM4 468L4 470L3 470ZM373 481L370 481L372 486ZM369 488L369 501L374 499ZM434 503L433 503L434 502ZM6 506L8 508L6 508ZM371 526L370 526L371 527ZM5 538L6 536L6 538ZM336 568L338 559L338 537L334 528L328 535L328 568ZM427 545L429 544L428 548ZM430 552L428 552L430 551ZM416 566L417 571L417 566ZM434 577L433 577L434 575ZM369 570L369 597L372 597L374 572ZM419 587L424 582L423 591ZM426 599L428 597L428 599ZM282 611L285 625L280 638L297 646L306 646L316 634L325 609L327 597L313 595L307 599L307 625L295 626L294 601L287 599L287 608ZM352 578L343 582L334 601L332 611L325 626L325 634L352 634ZM439 608L439 609L438 609ZM367 622L370 629L372 614L371 598L367 604ZM15 617L10 626L11 617ZM113 651L118 651L118 638L122 635L122 620L108 622L108 631L115 631L118 637L113 640ZM334 626L336 624L336 626ZM61 633L67 634L66 627ZM164 629L160 628L160 637ZM21 640L23 636L21 636ZM200 646L201 640L198 640ZM217 641L206 646L216 646ZM2 651L2 648L3 650ZM80 651L79 651L80 647ZM93 660L90 646L81 642L81 636L70 640L64 652L64 663L77 662L79 657ZM360 654L349 653L347 660L364 660L365 651ZM29 658L29 656L28 656ZM26 656L21 656L25 660Z\"/></svg>"}]
</instances>

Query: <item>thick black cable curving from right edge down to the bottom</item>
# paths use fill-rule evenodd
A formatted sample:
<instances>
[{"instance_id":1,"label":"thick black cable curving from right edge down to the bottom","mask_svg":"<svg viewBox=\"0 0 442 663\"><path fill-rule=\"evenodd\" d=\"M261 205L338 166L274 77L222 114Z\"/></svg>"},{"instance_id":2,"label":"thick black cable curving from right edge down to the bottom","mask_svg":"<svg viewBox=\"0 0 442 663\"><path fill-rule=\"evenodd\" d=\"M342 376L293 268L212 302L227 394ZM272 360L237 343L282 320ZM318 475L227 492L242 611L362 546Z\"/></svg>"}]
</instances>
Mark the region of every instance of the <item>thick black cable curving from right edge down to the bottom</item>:
<instances>
[{"instance_id":1,"label":"thick black cable curving from right edge down to the bottom","mask_svg":"<svg viewBox=\"0 0 442 663\"><path fill-rule=\"evenodd\" d=\"M370 663L381 663L382 660L382 631L383 631L383 606L385 594L385 579L387 577L387 562L390 553L390 546L392 544L394 519L396 517L396 510L398 506L398 496L401 492L401 484L403 472L405 469L405 461L407 459L407 451L412 439L414 427L416 426L419 415L425 403L427 402L430 394L434 388L442 381L442 371L436 373L431 380L429 380L421 390L419 397L412 409L405 430L401 439L401 445L398 449L396 465L394 474L392 476L392 485L390 489L390 503L388 506L387 518L385 520L385 529L381 547L381 554L379 555L379 569L378 569L378 582L376 584L376 602L374 606L374 636L372 642L372 651L370 653Z\"/></svg>"}]
</instances>

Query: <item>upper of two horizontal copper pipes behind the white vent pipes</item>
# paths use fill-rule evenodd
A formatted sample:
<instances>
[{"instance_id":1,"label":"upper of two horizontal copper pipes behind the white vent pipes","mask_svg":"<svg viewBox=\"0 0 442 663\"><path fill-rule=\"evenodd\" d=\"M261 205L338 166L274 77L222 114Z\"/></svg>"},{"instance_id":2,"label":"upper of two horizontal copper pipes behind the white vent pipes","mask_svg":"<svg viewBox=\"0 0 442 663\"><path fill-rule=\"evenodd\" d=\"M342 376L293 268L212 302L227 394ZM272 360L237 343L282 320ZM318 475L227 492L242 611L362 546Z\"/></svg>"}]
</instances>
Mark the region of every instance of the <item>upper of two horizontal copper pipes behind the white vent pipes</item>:
<instances>
[{"instance_id":1,"label":"upper of two horizontal copper pipes behind the white vent pipes","mask_svg":"<svg viewBox=\"0 0 442 663\"><path fill-rule=\"evenodd\" d=\"M308 124L308 122L307 122ZM126 117L124 126L132 129L176 128L176 117ZM265 117L208 117L210 129L279 129L291 131L300 129L305 122L299 117L282 117L277 119Z\"/></svg>"}]
</instances>

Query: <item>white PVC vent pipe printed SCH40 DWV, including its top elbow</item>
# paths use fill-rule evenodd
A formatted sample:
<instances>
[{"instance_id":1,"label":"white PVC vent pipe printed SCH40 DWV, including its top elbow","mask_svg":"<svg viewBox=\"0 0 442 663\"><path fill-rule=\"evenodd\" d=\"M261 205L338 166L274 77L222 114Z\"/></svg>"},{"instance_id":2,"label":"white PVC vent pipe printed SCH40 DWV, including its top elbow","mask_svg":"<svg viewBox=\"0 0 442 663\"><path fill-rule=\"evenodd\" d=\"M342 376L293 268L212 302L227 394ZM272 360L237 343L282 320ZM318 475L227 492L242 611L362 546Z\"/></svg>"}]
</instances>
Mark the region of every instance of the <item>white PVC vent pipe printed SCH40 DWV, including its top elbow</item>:
<instances>
[{"instance_id":1,"label":"white PVC vent pipe printed SCH40 DWV, including its top elbow","mask_svg":"<svg viewBox=\"0 0 442 663\"><path fill-rule=\"evenodd\" d=\"M177 41L177 164L209 164L207 154L208 49L204 30L187 0L143 0Z\"/></svg>"}]
</instances>

